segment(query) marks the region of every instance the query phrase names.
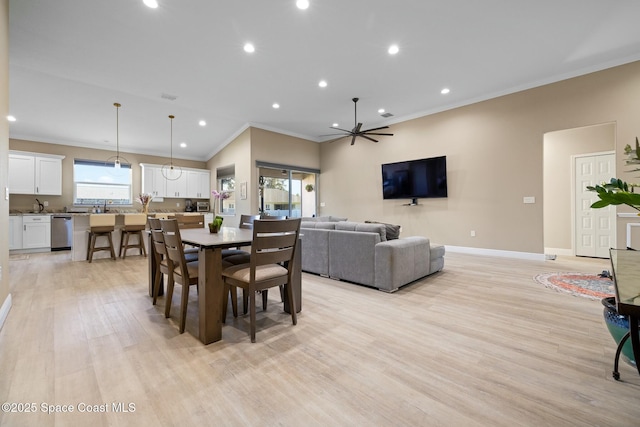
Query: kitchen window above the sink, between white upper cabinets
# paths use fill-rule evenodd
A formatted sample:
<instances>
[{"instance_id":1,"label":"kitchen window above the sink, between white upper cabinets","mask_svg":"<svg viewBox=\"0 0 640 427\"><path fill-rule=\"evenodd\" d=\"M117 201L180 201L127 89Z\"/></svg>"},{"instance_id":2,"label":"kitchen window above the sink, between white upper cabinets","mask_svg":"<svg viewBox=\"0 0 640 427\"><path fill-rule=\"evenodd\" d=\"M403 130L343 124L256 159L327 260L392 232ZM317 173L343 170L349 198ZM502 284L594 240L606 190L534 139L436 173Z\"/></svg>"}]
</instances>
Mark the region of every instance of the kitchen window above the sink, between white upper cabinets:
<instances>
[{"instance_id":1,"label":"kitchen window above the sink, between white upper cabinets","mask_svg":"<svg viewBox=\"0 0 640 427\"><path fill-rule=\"evenodd\" d=\"M131 181L131 165L74 159L73 204L132 205Z\"/></svg>"}]
</instances>

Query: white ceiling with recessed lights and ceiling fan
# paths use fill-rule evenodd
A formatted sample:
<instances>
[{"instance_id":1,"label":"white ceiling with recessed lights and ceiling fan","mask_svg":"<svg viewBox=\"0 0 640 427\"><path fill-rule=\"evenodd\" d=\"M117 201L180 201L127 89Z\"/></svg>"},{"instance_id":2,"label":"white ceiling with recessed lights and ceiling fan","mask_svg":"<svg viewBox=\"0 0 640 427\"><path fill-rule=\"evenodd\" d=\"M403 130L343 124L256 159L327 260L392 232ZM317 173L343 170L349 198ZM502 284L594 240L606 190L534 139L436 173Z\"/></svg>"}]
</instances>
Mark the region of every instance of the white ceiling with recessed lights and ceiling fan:
<instances>
[{"instance_id":1,"label":"white ceiling with recessed lights and ceiling fan","mask_svg":"<svg viewBox=\"0 0 640 427\"><path fill-rule=\"evenodd\" d=\"M353 127L353 97L363 129L393 132L640 59L637 0L158 3L11 0L10 137L115 150L119 102L121 151L169 156L173 114L174 157L207 160L247 126L326 140Z\"/></svg>"}]
</instances>

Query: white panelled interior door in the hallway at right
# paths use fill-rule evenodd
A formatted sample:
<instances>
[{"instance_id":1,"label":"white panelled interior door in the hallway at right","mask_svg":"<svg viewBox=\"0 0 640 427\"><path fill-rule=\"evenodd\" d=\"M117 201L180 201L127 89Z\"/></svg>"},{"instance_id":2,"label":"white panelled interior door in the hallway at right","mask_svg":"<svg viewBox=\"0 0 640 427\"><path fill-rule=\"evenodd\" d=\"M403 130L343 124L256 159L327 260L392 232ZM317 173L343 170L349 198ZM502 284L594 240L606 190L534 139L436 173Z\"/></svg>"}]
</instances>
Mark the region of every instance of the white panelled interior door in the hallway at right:
<instances>
[{"instance_id":1,"label":"white panelled interior door in the hallway at right","mask_svg":"<svg viewBox=\"0 0 640 427\"><path fill-rule=\"evenodd\" d=\"M592 209L598 196L587 186L615 177L615 154L578 156L574 170L576 255L609 258L609 248L616 247L616 208Z\"/></svg>"}]
</instances>

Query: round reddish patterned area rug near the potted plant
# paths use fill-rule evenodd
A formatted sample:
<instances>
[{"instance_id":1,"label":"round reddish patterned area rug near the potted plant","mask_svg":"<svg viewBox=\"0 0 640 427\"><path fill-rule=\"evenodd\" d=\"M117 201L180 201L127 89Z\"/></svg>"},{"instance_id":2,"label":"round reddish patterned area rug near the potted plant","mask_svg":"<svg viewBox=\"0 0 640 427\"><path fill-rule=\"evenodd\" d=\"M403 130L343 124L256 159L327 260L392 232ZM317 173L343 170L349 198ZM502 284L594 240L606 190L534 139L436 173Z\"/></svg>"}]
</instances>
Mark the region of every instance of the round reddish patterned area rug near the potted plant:
<instances>
[{"instance_id":1,"label":"round reddish patterned area rug near the potted plant","mask_svg":"<svg viewBox=\"0 0 640 427\"><path fill-rule=\"evenodd\" d=\"M559 292L600 300L614 295L613 280L597 274L545 273L533 278L536 282Z\"/></svg>"}]
</instances>

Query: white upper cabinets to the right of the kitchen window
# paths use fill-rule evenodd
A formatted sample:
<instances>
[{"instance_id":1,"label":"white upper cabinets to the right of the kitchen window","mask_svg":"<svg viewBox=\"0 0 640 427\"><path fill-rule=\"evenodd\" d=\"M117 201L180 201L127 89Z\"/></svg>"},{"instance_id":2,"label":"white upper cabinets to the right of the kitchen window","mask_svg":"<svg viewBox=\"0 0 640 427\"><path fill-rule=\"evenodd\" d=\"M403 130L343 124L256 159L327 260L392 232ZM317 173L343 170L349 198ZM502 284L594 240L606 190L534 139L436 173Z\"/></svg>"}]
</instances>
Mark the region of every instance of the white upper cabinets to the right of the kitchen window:
<instances>
[{"instance_id":1,"label":"white upper cabinets to the right of the kitchen window","mask_svg":"<svg viewBox=\"0 0 640 427\"><path fill-rule=\"evenodd\" d=\"M162 175L162 166L141 163L142 192L151 194L154 201L168 198L209 198L210 172L205 169L182 169L178 179L167 179Z\"/></svg>"}]
</instances>

